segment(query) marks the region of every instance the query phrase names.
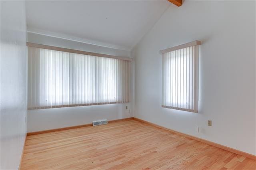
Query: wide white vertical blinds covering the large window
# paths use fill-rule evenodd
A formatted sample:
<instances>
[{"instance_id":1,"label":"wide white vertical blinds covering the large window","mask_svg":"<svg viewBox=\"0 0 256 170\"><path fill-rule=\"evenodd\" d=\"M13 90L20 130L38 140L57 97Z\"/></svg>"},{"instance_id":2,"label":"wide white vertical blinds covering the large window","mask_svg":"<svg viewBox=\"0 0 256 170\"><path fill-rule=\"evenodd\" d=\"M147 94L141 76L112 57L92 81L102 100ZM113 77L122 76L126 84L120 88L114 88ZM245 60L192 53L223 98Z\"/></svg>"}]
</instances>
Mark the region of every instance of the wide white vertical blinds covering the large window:
<instances>
[{"instance_id":1,"label":"wide white vertical blinds covering the large window","mask_svg":"<svg viewBox=\"0 0 256 170\"><path fill-rule=\"evenodd\" d=\"M28 109L130 102L131 62L28 47Z\"/></svg>"}]
</instances>

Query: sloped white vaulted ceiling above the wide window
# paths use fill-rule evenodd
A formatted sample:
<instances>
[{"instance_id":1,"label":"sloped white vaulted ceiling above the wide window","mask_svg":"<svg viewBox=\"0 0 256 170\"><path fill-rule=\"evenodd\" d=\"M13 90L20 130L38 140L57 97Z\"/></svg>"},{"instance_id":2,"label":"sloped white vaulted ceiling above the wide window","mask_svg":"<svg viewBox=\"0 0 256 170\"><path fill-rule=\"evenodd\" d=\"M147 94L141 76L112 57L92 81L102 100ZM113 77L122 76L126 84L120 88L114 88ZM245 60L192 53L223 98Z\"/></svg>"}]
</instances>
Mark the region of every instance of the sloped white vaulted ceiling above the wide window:
<instances>
[{"instance_id":1,"label":"sloped white vaulted ceiling above the wide window","mask_svg":"<svg viewBox=\"0 0 256 170\"><path fill-rule=\"evenodd\" d=\"M167 0L26 1L28 32L130 50L170 6Z\"/></svg>"}]
</instances>

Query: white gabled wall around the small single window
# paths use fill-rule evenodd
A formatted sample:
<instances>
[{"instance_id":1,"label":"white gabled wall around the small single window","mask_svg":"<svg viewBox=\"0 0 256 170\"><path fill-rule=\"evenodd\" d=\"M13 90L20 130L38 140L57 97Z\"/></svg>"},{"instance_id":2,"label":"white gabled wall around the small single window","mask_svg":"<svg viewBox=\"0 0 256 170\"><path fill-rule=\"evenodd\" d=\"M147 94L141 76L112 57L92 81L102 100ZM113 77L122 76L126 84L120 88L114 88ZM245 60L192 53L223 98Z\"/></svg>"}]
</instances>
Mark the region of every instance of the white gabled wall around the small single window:
<instances>
[{"instance_id":1,"label":"white gabled wall around the small single window","mask_svg":"<svg viewBox=\"0 0 256 170\"><path fill-rule=\"evenodd\" d=\"M134 49L134 117L256 155L255 7L255 1L171 5ZM194 40L202 40L199 113L161 108L159 50Z\"/></svg>"}]
</instances>

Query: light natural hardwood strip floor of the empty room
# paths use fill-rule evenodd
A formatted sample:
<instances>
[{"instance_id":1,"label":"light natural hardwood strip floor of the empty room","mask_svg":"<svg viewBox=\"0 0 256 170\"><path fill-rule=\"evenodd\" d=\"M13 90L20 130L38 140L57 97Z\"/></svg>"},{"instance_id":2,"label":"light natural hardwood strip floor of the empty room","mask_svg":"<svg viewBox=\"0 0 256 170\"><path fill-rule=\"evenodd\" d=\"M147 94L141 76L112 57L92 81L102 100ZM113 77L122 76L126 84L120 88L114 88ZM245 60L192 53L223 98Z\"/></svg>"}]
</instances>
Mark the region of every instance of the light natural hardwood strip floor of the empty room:
<instances>
[{"instance_id":1,"label":"light natural hardwood strip floor of the empty room","mask_svg":"<svg viewBox=\"0 0 256 170\"><path fill-rule=\"evenodd\" d=\"M27 136L21 169L244 169L256 161L136 120Z\"/></svg>"}]
</instances>

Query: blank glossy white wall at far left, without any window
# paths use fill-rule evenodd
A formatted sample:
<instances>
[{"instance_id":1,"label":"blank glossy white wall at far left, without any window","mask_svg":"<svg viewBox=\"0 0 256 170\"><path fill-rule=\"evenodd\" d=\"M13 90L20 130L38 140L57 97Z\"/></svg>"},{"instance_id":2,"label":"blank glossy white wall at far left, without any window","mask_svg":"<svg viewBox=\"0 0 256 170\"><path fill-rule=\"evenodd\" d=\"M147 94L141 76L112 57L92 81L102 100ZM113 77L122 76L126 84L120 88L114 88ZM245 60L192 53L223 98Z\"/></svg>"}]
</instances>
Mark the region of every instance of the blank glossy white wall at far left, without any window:
<instances>
[{"instance_id":1,"label":"blank glossy white wall at far left, without any window","mask_svg":"<svg viewBox=\"0 0 256 170\"><path fill-rule=\"evenodd\" d=\"M26 136L26 14L0 1L0 169L18 169Z\"/></svg>"}]
</instances>

